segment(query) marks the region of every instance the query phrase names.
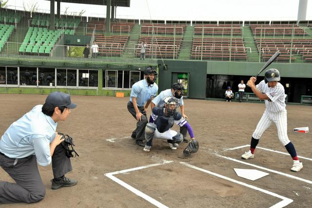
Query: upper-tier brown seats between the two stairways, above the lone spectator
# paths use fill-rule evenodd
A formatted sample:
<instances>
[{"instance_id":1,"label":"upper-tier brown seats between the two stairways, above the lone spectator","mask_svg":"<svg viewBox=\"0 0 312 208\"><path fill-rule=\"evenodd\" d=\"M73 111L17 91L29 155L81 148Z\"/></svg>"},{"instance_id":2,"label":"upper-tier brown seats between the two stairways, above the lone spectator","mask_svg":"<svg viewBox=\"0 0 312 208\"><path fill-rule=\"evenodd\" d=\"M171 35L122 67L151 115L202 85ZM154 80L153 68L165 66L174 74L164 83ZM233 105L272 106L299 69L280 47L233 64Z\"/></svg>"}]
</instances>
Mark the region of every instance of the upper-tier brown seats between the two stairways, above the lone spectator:
<instances>
[{"instance_id":1,"label":"upper-tier brown seats between the two stairways, above the lone spectator","mask_svg":"<svg viewBox=\"0 0 312 208\"><path fill-rule=\"evenodd\" d=\"M143 23L141 34L183 34L186 24Z\"/></svg>"}]
</instances>

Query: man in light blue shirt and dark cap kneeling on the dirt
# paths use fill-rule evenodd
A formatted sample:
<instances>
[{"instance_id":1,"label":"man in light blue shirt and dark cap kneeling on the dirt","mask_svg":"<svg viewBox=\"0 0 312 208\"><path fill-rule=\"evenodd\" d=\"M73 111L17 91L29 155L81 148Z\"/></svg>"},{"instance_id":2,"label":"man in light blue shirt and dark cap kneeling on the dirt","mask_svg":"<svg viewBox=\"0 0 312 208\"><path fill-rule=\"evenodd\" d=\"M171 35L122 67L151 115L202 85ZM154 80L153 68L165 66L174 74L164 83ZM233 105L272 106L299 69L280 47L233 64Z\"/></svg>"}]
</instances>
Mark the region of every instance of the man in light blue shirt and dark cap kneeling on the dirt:
<instances>
[{"instance_id":1,"label":"man in light blue shirt and dark cap kneeling on the dirt","mask_svg":"<svg viewBox=\"0 0 312 208\"><path fill-rule=\"evenodd\" d=\"M52 162L52 189L78 183L64 176L72 165L61 145L64 139L56 132L57 122L65 121L76 106L69 94L53 92L44 105L36 105L4 132L0 140L0 166L16 183L0 182L0 204L35 203L44 198L37 163L47 166Z\"/></svg>"}]
</instances>

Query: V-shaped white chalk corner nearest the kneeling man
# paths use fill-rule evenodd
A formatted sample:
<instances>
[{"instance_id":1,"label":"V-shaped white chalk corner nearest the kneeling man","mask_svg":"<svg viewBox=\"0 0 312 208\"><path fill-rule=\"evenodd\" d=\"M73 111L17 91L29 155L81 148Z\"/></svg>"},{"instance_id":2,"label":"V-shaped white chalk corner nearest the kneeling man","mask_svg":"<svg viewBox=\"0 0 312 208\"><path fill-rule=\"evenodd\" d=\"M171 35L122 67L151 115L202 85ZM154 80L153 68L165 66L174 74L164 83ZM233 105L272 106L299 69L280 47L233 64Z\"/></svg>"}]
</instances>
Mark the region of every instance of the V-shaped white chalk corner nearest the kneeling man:
<instances>
[{"instance_id":1,"label":"V-shaped white chalk corner nearest the kneeling man","mask_svg":"<svg viewBox=\"0 0 312 208\"><path fill-rule=\"evenodd\" d=\"M160 165L164 165L164 164L168 164L168 163L172 163L173 161L167 161L164 160L163 163L157 163L157 164L152 164L152 165L147 165L147 166L140 166L140 167L134 167L134 168L130 168L130 169L125 169L125 170L120 170L120 171L116 171L116 172L111 172L111 173L105 173L104 175L110 179L112 179L113 181L115 181L117 184L119 184L122 187L127 188L128 190L130 190L131 192L137 194L139 197L145 199L146 201L148 201L149 203L155 205L158 208L168 208L167 206L161 204L160 202L158 202L157 200L153 199L152 197L148 196L147 194L137 190L137 188L134 188L132 186L130 186L129 184L121 181L120 179L116 178L115 174L119 174L119 173L125 173L125 172L129 172L129 171L134 171L134 170L140 170L140 169L144 169L144 168L148 168L148 167L154 167L154 166L160 166Z\"/></svg>"}]
</instances>

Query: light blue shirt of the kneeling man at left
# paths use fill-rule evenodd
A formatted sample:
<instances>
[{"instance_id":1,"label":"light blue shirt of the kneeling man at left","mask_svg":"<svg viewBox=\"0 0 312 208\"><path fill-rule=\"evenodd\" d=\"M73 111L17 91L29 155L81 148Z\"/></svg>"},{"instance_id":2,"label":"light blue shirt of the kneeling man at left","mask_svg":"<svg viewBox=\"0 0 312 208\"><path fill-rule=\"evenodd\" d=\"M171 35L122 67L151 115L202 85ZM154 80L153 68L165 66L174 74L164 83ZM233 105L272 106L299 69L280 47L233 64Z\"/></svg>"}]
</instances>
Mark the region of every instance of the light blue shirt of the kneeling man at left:
<instances>
[{"instance_id":1,"label":"light blue shirt of the kneeling man at left","mask_svg":"<svg viewBox=\"0 0 312 208\"><path fill-rule=\"evenodd\" d=\"M50 143L55 138L58 123L42 113L42 105L14 122L0 140L0 152L9 158L24 158L36 154L40 166L51 163Z\"/></svg>"}]
</instances>

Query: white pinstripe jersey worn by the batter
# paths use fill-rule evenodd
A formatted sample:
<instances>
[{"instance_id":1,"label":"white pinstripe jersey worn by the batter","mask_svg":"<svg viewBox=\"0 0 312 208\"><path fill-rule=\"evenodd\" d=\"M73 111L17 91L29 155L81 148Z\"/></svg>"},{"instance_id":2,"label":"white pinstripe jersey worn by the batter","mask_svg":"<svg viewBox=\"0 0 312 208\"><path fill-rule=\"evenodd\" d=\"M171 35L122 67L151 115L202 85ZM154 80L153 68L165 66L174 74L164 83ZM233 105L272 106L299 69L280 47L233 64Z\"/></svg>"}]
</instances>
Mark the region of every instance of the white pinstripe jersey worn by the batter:
<instances>
[{"instance_id":1,"label":"white pinstripe jersey worn by the batter","mask_svg":"<svg viewBox=\"0 0 312 208\"><path fill-rule=\"evenodd\" d=\"M268 83L262 80L256 85L257 90L266 94L269 100L265 100L266 110L270 112L279 112L285 109L285 89L281 83L277 83L275 87L269 87Z\"/></svg>"}]
</instances>

